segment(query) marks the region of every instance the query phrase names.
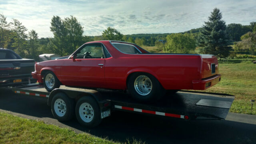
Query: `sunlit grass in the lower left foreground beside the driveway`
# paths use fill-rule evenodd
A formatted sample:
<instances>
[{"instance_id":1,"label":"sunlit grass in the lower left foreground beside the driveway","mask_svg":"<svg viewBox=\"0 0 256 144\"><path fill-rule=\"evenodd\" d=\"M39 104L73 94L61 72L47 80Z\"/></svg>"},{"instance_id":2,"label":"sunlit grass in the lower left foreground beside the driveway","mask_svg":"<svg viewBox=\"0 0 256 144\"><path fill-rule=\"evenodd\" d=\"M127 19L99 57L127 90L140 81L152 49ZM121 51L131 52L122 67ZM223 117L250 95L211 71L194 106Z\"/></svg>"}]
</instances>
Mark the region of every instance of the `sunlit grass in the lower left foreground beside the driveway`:
<instances>
[{"instance_id":1,"label":"sunlit grass in the lower left foreground beside the driveway","mask_svg":"<svg viewBox=\"0 0 256 144\"><path fill-rule=\"evenodd\" d=\"M0 144L116 144L87 133L0 112ZM129 141L126 142L130 144ZM132 144L142 144L133 140Z\"/></svg>"}]
</instances>

